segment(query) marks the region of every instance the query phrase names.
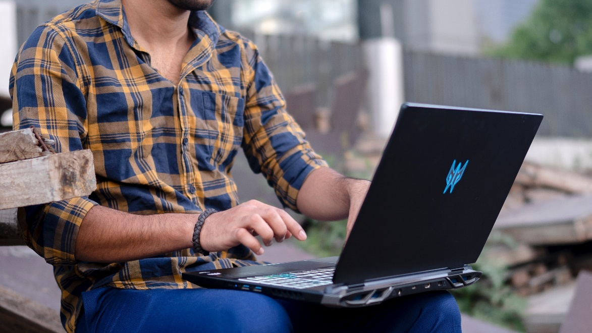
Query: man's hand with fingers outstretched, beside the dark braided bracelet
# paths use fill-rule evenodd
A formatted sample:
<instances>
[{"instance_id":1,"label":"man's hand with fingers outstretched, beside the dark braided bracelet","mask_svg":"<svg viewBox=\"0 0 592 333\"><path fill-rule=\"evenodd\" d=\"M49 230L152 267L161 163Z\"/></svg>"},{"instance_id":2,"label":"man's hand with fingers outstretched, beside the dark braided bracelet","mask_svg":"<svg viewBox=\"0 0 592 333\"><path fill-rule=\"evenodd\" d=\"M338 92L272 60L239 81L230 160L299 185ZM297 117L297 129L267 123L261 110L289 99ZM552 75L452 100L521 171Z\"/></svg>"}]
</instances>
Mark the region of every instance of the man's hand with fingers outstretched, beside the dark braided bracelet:
<instances>
[{"instance_id":1,"label":"man's hand with fingers outstretched, beside the dark braided bracelet","mask_svg":"<svg viewBox=\"0 0 592 333\"><path fill-rule=\"evenodd\" d=\"M291 235L301 241L306 239L303 228L287 212L251 200L208 216L201 228L201 248L215 252L243 244L260 255L263 248L256 235L260 235L267 246L274 238L278 243Z\"/></svg>"}]
</instances>

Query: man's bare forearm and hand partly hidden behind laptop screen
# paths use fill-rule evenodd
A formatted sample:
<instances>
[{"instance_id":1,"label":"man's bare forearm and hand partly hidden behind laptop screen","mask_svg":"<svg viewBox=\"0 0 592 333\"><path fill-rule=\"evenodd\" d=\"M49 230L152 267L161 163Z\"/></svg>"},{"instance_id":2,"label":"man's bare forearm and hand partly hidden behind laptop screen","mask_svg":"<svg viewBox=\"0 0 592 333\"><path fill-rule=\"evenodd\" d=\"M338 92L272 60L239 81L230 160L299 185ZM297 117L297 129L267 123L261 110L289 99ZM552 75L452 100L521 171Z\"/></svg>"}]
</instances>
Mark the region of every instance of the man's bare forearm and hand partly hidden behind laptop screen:
<instances>
[{"instance_id":1,"label":"man's bare forearm and hand partly hidden behind laptop screen","mask_svg":"<svg viewBox=\"0 0 592 333\"><path fill-rule=\"evenodd\" d=\"M310 218L321 221L345 219L352 212L352 206L358 206L358 202L361 204L369 183L321 167L308 175L298 192L296 204L298 210ZM352 205L352 199L355 205ZM353 208L354 211L359 209Z\"/></svg>"}]
</instances>

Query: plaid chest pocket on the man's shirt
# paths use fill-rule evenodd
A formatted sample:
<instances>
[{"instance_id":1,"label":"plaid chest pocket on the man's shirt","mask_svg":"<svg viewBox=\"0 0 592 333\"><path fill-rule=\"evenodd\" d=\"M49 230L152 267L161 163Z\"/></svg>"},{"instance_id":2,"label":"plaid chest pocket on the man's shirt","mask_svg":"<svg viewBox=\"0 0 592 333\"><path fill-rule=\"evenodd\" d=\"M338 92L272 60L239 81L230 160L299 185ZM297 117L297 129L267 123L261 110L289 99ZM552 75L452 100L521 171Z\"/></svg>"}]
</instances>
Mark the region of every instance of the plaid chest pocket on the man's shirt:
<instances>
[{"instance_id":1,"label":"plaid chest pocket on the man's shirt","mask_svg":"<svg viewBox=\"0 0 592 333\"><path fill-rule=\"evenodd\" d=\"M210 164L217 167L227 164L243 140L244 99L218 93L204 92L204 110L208 122Z\"/></svg>"}]
</instances>

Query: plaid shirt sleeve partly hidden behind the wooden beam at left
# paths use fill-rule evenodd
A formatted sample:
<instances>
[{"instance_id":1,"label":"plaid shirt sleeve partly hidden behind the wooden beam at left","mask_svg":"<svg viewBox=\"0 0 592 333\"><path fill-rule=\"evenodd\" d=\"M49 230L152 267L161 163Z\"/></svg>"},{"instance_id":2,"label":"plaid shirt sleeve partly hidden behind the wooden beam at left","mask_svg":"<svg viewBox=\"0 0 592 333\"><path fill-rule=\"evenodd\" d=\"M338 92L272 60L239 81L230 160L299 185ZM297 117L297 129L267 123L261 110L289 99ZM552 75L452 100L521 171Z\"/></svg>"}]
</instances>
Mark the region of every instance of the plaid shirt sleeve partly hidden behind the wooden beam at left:
<instances>
[{"instance_id":1,"label":"plaid shirt sleeve partly hidden behind the wooden beam at left","mask_svg":"<svg viewBox=\"0 0 592 333\"><path fill-rule=\"evenodd\" d=\"M86 99L69 43L53 27L37 28L17 55L9 82L14 128L36 127L55 141L57 153L81 150L87 133ZM47 263L75 264L78 229L94 205L88 198L73 198L21 208L25 242Z\"/></svg>"}]
</instances>

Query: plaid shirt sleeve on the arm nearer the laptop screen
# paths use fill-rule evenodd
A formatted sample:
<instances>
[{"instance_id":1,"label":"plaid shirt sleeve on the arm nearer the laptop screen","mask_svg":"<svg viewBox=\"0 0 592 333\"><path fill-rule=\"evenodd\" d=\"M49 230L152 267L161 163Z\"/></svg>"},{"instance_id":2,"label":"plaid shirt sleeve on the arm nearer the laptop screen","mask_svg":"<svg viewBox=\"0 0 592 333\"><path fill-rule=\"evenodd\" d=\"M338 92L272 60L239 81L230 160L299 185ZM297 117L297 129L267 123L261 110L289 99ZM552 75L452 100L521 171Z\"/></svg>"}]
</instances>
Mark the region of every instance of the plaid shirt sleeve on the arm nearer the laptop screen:
<instances>
[{"instance_id":1,"label":"plaid shirt sleeve on the arm nearer the laptop screen","mask_svg":"<svg viewBox=\"0 0 592 333\"><path fill-rule=\"evenodd\" d=\"M282 205L298 211L296 201L304 180L327 163L286 112L284 96L255 45L245 41L244 50L244 153L253 172L263 173L274 187Z\"/></svg>"}]
</instances>

